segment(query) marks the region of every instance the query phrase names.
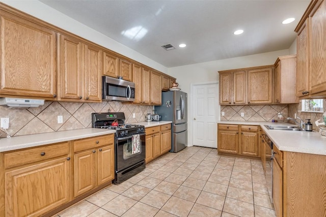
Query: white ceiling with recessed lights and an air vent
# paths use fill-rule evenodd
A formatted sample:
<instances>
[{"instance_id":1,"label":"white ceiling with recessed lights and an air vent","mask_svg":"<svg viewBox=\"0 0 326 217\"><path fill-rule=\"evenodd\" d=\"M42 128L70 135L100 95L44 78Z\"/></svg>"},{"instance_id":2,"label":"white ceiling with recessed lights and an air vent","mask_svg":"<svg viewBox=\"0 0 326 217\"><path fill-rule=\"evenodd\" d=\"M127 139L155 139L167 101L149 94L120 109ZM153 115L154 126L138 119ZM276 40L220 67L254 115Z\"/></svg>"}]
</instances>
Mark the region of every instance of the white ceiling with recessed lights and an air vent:
<instances>
[{"instance_id":1,"label":"white ceiling with recessed lights and an air vent","mask_svg":"<svg viewBox=\"0 0 326 217\"><path fill-rule=\"evenodd\" d=\"M288 49L310 0L41 2L170 68Z\"/></svg>"}]
</instances>

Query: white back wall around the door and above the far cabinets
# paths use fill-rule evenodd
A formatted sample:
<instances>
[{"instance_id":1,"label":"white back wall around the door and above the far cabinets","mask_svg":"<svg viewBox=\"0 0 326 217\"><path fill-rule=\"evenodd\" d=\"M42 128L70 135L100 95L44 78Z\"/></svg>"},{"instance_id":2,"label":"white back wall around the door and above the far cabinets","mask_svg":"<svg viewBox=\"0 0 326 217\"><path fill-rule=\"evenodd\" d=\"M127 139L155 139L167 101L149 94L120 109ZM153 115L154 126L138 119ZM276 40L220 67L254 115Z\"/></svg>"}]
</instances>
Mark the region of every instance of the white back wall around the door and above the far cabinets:
<instances>
[{"instance_id":1,"label":"white back wall around the door and above the far cabinets","mask_svg":"<svg viewBox=\"0 0 326 217\"><path fill-rule=\"evenodd\" d=\"M220 59L206 63L173 67L168 69L168 74L177 78L179 88L188 93L188 108L191 105L190 90L192 84L218 81L218 71L248 68L256 66L274 65L277 57L289 55L289 50L279 50L268 53L260 53L249 56L241 56L229 59ZM220 110L218 108L218 110ZM220 115L218 114L218 117ZM191 111L188 110L188 146L192 145Z\"/></svg>"}]
</instances>

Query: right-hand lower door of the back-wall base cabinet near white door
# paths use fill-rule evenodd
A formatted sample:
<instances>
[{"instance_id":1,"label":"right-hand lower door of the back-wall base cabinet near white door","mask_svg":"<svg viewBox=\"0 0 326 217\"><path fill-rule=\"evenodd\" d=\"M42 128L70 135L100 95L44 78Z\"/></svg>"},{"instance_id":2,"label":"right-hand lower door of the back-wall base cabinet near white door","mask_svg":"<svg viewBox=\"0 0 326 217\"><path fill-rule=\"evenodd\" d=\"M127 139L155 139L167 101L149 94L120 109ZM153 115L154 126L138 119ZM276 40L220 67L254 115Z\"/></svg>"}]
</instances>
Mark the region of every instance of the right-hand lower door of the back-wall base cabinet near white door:
<instances>
[{"instance_id":1,"label":"right-hand lower door of the back-wall base cabinet near white door","mask_svg":"<svg viewBox=\"0 0 326 217\"><path fill-rule=\"evenodd\" d=\"M240 154L259 156L258 133L241 132Z\"/></svg>"}]
</instances>

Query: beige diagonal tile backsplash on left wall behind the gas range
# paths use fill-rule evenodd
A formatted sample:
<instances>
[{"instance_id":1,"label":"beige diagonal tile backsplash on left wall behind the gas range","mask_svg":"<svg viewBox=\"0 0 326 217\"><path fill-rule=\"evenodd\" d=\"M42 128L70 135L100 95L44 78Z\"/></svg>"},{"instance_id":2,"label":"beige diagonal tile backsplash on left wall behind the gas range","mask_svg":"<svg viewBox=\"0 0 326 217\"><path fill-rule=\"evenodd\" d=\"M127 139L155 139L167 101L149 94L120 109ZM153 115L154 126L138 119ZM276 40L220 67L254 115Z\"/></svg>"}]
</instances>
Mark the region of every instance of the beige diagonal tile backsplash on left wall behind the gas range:
<instances>
[{"instance_id":1,"label":"beige diagonal tile backsplash on left wall behind the gas range","mask_svg":"<svg viewBox=\"0 0 326 217\"><path fill-rule=\"evenodd\" d=\"M43 106L9 108L0 106L0 116L9 117L11 136L31 135L92 127L93 112L124 112L126 123L145 121L145 114L153 112L153 106L122 104L121 102L103 101L101 103L67 103L45 101ZM135 113L135 118L132 117ZM58 123L58 116L63 116L63 123ZM7 134L1 128L0 138Z\"/></svg>"}]
</instances>

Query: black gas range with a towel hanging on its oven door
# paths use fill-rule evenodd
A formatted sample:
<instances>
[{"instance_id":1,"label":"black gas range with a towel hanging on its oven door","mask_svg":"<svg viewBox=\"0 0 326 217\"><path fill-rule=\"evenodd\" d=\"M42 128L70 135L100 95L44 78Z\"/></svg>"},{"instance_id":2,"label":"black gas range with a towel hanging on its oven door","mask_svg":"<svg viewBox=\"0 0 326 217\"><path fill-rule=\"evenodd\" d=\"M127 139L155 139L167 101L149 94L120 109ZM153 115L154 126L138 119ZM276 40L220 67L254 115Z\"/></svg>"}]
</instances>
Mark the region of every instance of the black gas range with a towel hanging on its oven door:
<instances>
[{"instance_id":1,"label":"black gas range with a towel hanging on its oven door","mask_svg":"<svg viewBox=\"0 0 326 217\"><path fill-rule=\"evenodd\" d=\"M145 169L145 127L126 124L123 112L92 113L92 127L116 130L115 179L121 183Z\"/></svg>"}]
</instances>

